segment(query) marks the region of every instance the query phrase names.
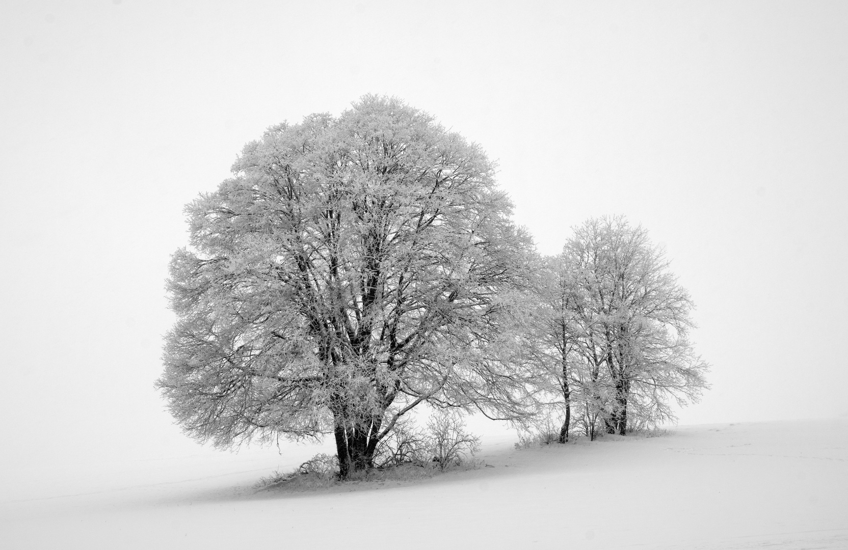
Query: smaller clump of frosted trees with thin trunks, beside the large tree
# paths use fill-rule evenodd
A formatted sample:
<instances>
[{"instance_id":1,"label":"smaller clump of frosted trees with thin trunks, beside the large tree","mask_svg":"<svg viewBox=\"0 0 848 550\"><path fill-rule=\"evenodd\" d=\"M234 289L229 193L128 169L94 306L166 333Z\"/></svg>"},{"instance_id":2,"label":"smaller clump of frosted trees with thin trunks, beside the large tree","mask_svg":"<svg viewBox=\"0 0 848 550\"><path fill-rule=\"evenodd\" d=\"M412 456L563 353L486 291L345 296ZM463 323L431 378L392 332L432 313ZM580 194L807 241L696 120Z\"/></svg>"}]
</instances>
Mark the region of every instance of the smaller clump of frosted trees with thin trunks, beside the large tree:
<instances>
[{"instance_id":1,"label":"smaller clump of frosted trees with thin trunks, beside the large tree","mask_svg":"<svg viewBox=\"0 0 848 550\"><path fill-rule=\"evenodd\" d=\"M566 411L561 442L572 408L587 435L598 422L624 435L673 419L669 398L700 396L708 365L689 342L694 306L644 228L589 219L549 260L534 342Z\"/></svg>"}]
</instances>

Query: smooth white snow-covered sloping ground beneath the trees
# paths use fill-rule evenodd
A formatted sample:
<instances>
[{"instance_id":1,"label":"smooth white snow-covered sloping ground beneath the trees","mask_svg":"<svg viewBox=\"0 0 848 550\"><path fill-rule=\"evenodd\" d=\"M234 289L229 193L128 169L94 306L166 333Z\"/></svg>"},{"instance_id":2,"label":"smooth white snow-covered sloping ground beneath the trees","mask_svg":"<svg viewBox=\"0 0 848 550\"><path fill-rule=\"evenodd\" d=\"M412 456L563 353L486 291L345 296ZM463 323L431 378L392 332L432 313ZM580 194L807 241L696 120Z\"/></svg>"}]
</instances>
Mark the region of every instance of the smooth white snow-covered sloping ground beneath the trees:
<instances>
[{"instance_id":1,"label":"smooth white snow-covered sloping ground beneath the trees","mask_svg":"<svg viewBox=\"0 0 848 550\"><path fill-rule=\"evenodd\" d=\"M494 468L309 493L251 486L327 447L80 464L4 486L0 547L848 548L848 419L514 442L484 439Z\"/></svg>"}]
</instances>

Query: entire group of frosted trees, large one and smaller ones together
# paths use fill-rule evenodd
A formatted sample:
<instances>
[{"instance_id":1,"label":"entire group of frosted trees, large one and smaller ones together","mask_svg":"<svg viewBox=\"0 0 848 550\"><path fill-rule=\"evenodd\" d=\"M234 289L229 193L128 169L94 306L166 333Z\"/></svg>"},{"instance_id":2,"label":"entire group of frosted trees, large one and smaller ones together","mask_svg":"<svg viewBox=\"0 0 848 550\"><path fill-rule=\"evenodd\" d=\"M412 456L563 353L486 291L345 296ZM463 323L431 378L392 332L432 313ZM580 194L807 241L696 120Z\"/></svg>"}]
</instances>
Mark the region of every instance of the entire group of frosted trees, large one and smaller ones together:
<instances>
[{"instance_id":1,"label":"entire group of frosted trees, large one and smaller ones together","mask_svg":"<svg viewBox=\"0 0 848 550\"><path fill-rule=\"evenodd\" d=\"M565 441L705 386L692 303L644 230L589 220L538 257L483 150L397 99L276 125L232 170L187 205L168 281L158 385L201 441L332 434L347 477L422 404L559 408Z\"/></svg>"}]
</instances>

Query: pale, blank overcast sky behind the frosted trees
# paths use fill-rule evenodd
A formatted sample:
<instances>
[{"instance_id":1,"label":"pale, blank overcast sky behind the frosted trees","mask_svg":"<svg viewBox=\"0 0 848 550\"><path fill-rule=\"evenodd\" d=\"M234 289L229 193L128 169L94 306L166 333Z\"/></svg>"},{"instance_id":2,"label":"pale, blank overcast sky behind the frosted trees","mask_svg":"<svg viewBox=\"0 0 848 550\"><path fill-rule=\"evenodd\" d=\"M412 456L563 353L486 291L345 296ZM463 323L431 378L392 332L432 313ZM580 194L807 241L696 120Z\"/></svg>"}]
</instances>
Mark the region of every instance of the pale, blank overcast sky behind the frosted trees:
<instances>
[{"instance_id":1,"label":"pale, blank overcast sky behind the frosted trees","mask_svg":"<svg viewBox=\"0 0 848 550\"><path fill-rule=\"evenodd\" d=\"M698 309L681 423L848 414L848 3L0 4L4 464L176 453L181 209L283 119L404 98L543 253L626 214Z\"/></svg>"}]
</instances>

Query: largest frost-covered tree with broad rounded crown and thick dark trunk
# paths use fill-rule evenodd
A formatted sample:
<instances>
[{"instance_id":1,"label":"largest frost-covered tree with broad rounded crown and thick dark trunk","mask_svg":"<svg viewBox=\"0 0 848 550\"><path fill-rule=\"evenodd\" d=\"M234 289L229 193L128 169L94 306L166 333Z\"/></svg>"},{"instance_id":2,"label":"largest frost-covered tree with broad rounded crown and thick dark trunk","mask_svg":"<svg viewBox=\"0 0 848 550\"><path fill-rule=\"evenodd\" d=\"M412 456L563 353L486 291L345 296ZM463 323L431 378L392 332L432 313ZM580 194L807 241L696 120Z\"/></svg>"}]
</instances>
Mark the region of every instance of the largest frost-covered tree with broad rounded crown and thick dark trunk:
<instances>
[{"instance_id":1,"label":"largest frost-covered tree with broad rounded crown and thick dark trunk","mask_svg":"<svg viewBox=\"0 0 848 550\"><path fill-rule=\"evenodd\" d=\"M187 433L333 433L340 474L421 403L519 419L510 326L533 244L477 145L365 96L248 143L187 205L159 379Z\"/></svg>"}]
</instances>

